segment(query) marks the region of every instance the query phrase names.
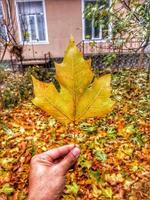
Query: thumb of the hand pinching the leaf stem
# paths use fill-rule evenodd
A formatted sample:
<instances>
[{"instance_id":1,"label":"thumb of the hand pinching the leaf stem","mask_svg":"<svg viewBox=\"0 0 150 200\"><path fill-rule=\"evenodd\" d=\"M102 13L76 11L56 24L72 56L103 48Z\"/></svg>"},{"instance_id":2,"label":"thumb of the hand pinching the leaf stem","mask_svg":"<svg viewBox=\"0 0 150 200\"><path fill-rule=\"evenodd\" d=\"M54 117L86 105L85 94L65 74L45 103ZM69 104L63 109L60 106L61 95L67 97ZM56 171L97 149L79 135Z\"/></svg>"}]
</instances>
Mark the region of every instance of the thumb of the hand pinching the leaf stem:
<instances>
[{"instance_id":1,"label":"thumb of the hand pinching the leaf stem","mask_svg":"<svg viewBox=\"0 0 150 200\"><path fill-rule=\"evenodd\" d=\"M75 147L58 164L63 175L65 175L67 171L71 168L71 166L77 161L79 155L80 149L78 147Z\"/></svg>"}]
</instances>

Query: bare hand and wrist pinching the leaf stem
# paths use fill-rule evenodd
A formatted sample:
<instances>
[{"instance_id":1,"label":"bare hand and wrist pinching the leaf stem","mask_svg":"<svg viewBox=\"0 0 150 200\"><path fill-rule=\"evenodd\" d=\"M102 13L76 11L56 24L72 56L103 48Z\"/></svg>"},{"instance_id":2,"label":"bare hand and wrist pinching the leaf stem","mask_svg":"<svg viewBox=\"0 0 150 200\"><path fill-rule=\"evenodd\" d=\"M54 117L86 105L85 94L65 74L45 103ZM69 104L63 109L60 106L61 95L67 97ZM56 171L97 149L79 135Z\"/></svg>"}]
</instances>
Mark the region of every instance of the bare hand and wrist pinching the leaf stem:
<instances>
[{"instance_id":1,"label":"bare hand and wrist pinching the leaf stem","mask_svg":"<svg viewBox=\"0 0 150 200\"><path fill-rule=\"evenodd\" d=\"M31 159L28 200L58 200L65 188L65 175L80 155L77 145L65 145Z\"/></svg>"}]
</instances>

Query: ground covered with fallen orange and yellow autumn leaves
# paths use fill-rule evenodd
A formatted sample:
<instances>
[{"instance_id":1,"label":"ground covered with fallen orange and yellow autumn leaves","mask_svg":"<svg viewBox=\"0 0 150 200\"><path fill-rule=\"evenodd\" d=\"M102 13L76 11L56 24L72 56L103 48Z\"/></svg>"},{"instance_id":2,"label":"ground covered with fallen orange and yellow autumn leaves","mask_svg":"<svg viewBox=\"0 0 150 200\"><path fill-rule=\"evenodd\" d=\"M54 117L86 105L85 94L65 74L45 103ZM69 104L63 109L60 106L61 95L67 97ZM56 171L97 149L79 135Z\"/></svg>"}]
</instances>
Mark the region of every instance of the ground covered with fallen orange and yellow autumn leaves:
<instances>
[{"instance_id":1,"label":"ground covered with fallen orange and yellow autumn leaves","mask_svg":"<svg viewBox=\"0 0 150 200\"><path fill-rule=\"evenodd\" d=\"M0 199L27 198L31 157L77 143L81 156L67 174L63 200L150 199L149 84L143 69L112 75L113 111L65 127L31 101L1 111Z\"/></svg>"}]
</instances>

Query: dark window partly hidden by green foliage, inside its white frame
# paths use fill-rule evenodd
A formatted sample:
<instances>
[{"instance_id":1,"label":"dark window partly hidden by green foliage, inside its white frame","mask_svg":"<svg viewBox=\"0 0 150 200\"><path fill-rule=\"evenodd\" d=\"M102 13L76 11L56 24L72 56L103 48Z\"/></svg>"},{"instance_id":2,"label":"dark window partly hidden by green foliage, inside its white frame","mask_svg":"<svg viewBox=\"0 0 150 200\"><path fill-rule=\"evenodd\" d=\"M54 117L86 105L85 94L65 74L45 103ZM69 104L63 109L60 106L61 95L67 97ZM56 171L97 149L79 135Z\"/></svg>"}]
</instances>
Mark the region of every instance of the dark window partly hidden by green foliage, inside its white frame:
<instances>
[{"instance_id":1,"label":"dark window partly hidden by green foliage, inside its white frame","mask_svg":"<svg viewBox=\"0 0 150 200\"><path fill-rule=\"evenodd\" d=\"M98 6L99 9L107 9L109 7L109 0L83 0L84 11L87 11L89 7ZM86 14L85 14L86 15ZM102 17L102 23L96 23L94 17L87 18L84 16L84 39L99 39L103 40L109 36L109 19L108 17Z\"/></svg>"}]
</instances>

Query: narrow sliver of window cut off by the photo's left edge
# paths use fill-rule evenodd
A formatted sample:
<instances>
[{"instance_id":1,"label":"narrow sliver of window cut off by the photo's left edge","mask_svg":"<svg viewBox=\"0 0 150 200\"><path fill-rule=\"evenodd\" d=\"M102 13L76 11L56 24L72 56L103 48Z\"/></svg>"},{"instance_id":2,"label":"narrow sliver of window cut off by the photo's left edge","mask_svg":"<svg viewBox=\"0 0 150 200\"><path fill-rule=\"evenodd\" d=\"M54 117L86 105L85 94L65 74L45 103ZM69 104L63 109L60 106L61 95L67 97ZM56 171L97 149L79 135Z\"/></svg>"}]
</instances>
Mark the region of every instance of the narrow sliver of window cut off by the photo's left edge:
<instances>
[{"instance_id":1,"label":"narrow sliver of window cut off by the photo's left edge","mask_svg":"<svg viewBox=\"0 0 150 200\"><path fill-rule=\"evenodd\" d=\"M4 25L4 18L3 18L3 7L2 7L2 1L0 1L0 40L7 40L7 36L6 36L6 29L5 29L5 25ZM2 42L1 41L1 42ZM0 43L1 43L0 42Z\"/></svg>"}]
</instances>

